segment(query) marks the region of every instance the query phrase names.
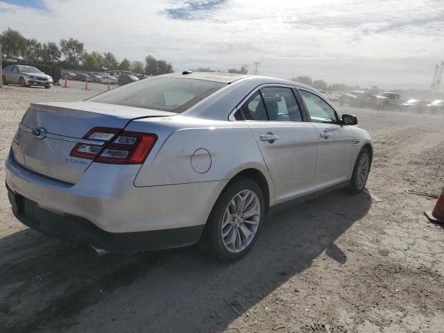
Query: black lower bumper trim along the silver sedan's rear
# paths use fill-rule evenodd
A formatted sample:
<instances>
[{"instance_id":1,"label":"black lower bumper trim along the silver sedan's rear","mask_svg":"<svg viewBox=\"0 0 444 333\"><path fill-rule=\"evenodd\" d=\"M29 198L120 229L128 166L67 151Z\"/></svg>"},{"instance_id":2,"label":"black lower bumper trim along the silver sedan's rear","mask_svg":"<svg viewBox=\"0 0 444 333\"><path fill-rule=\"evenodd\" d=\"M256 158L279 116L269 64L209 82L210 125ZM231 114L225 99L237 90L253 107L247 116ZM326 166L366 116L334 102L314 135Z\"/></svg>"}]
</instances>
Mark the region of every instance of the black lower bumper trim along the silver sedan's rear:
<instances>
[{"instance_id":1,"label":"black lower bumper trim along the silver sedan's rear","mask_svg":"<svg viewBox=\"0 0 444 333\"><path fill-rule=\"evenodd\" d=\"M145 232L107 232L86 219L64 216L39 205L8 188L14 215L28 227L62 241L90 244L112 252L138 252L176 248L196 243L204 225Z\"/></svg>"}]
</instances>

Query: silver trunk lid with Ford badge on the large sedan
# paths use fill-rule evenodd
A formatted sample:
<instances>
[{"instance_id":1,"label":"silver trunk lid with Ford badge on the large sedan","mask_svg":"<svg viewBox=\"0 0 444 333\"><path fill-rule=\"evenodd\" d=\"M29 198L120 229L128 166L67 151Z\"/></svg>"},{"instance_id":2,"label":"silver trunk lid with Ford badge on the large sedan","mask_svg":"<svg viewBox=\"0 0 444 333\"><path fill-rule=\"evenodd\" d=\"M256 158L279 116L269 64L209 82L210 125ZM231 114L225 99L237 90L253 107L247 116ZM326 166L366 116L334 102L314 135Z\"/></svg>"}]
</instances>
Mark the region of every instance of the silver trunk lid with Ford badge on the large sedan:
<instances>
[{"instance_id":1,"label":"silver trunk lid with Ford badge on the large sedan","mask_svg":"<svg viewBox=\"0 0 444 333\"><path fill-rule=\"evenodd\" d=\"M174 114L95 102L32 103L12 142L12 155L26 169L75 184L92 160L70 153L89 130L123 129L133 119Z\"/></svg>"}]
</instances>

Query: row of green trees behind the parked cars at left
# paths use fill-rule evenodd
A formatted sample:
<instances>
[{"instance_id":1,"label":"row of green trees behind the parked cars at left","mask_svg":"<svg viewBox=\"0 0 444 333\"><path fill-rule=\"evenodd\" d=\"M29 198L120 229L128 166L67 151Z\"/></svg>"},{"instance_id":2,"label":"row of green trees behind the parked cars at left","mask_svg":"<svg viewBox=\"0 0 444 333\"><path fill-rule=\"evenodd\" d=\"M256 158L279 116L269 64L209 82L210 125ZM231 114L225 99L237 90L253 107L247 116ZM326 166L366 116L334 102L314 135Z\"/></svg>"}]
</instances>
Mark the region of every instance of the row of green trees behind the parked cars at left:
<instances>
[{"instance_id":1,"label":"row of green trees behind the parked cars at left","mask_svg":"<svg viewBox=\"0 0 444 333\"><path fill-rule=\"evenodd\" d=\"M88 71L117 70L137 74L160 75L173 72L173 65L165 60L146 56L145 62L123 58L119 62L111 52L87 51L82 42L69 38L56 42L41 43L28 39L19 31L7 28L0 35L2 56L6 59L22 59L24 62L42 65L58 65L64 69Z\"/></svg>"}]
</instances>

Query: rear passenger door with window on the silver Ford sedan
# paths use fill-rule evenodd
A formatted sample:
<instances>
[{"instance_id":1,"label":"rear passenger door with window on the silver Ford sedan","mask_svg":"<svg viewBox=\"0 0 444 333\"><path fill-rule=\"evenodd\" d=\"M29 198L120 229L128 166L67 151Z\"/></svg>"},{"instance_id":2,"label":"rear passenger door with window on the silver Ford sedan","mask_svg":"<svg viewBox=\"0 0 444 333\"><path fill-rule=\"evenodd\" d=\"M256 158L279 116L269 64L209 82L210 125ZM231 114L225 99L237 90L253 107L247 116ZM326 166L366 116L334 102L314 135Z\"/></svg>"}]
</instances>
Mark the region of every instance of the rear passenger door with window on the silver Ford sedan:
<instances>
[{"instance_id":1,"label":"rear passenger door with window on the silver Ford sedan","mask_svg":"<svg viewBox=\"0 0 444 333\"><path fill-rule=\"evenodd\" d=\"M296 96L290 86L262 86L240 108L271 173L275 203L314 189L318 138Z\"/></svg>"}]
</instances>

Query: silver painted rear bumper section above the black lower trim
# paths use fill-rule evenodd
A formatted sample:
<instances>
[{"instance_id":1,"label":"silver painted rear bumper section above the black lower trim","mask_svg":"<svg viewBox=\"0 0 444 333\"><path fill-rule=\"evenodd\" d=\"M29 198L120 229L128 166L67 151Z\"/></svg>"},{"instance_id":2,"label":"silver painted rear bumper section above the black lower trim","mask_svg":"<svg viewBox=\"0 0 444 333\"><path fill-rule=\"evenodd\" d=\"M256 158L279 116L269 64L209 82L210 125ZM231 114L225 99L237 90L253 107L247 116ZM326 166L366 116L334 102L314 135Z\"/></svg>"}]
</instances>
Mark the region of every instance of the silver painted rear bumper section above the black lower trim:
<instances>
[{"instance_id":1,"label":"silver painted rear bumper section above the black lower trim","mask_svg":"<svg viewBox=\"0 0 444 333\"><path fill-rule=\"evenodd\" d=\"M10 154L6 185L13 194L37 203L44 211L80 216L104 232L127 233L205 225L228 183L135 187L133 180L139 168L92 163L72 185L30 171Z\"/></svg>"}]
</instances>

